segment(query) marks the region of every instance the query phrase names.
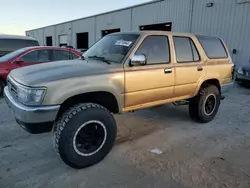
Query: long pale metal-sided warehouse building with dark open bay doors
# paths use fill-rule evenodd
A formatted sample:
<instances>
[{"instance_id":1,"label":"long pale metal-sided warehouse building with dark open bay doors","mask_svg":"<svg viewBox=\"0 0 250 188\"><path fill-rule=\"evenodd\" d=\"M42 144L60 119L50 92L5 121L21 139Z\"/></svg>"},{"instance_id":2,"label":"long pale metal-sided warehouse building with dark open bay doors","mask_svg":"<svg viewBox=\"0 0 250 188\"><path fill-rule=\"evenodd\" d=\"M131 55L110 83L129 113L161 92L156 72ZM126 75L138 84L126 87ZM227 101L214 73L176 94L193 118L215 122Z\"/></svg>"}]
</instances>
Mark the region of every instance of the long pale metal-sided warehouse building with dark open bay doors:
<instances>
[{"instance_id":1,"label":"long pale metal-sided warehouse building with dark open bay doors","mask_svg":"<svg viewBox=\"0 0 250 188\"><path fill-rule=\"evenodd\" d=\"M221 37L236 64L250 63L250 0L155 0L30 30L26 35L41 45L82 49L108 33L153 29Z\"/></svg>"}]
</instances>

